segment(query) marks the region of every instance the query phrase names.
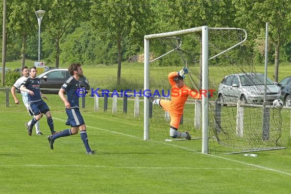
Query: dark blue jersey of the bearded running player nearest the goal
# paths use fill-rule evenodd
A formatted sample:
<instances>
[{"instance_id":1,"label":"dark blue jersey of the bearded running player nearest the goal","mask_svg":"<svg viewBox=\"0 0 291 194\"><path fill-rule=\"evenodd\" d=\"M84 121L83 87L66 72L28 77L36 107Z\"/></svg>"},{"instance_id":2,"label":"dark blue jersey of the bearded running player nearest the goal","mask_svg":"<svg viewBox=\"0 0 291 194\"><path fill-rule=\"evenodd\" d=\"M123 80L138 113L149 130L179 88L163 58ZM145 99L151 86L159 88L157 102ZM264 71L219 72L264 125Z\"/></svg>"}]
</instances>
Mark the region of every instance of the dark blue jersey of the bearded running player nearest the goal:
<instances>
[{"instance_id":1,"label":"dark blue jersey of the bearded running player nearest the goal","mask_svg":"<svg viewBox=\"0 0 291 194\"><path fill-rule=\"evenodd\" d=\"M80 88L80 83L73 76L71 76L61 88L66 90L67 100L70 103L70 107L79 108L79 95L76 91Z\"/></svg>"}]
</instances>

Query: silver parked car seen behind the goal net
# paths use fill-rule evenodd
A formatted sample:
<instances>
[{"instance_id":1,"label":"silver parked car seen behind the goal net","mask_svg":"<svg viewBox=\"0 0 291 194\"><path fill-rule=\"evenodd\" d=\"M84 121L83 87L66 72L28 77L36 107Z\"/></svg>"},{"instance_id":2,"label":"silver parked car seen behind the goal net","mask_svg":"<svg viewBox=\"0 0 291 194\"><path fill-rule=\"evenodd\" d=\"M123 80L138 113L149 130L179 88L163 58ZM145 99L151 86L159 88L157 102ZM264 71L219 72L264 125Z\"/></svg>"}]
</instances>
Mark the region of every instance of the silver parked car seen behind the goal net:
<instances>
[{"instance_id":1,"label":"silver parked car seen behind the goal net","mask_svg":"<svg viewBox=\"0 0 291 194\"><path fill-rule=\"evenodd\" d=\"M273 102L279 99L281 89L270 78L266 82L266 101ZM232 74L226 76L218 89L221 102L238 100L249 104L262 104L264 99L264 75L259 73Z\"/></svg>"}]
</instances>

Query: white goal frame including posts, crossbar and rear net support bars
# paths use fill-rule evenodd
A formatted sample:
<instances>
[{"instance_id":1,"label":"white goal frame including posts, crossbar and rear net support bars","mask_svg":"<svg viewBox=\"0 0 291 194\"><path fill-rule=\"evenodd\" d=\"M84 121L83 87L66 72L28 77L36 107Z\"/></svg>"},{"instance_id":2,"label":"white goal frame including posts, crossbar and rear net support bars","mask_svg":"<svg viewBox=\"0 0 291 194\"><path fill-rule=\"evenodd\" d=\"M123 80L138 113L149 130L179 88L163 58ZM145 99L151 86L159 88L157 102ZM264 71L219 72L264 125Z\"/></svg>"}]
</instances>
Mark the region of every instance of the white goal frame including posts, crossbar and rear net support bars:
<instances>
[{"instance_id":1,"label":"white goal frame including posts, crossbar and rear net support bars","mask_svg":"<svg viewBox=\"0 0 291 194\"><path fill-rule=\"evenodd\" d=\"M245 38L241 40L240 42L226 48L224 51L214 55L213 57L209 57L209 40L208 40L208 30L242 30L245 32ZM201 26L191 29L185 29L185 30L179 30L179 31L173 31L173 32L165 32L165 33L159 33L159 34L151 34L151 35L145 35L144 36L144 91L149 91L150 89L150 63L162 58L163 56L172 53L176 49L174 48L172 51L169 51L168 53L165 53L158 58L150 61L150 40L151 39L157 39L157 38L165 38L165 37L175 37L179 35L185 35L185 34L191 34L191 33L201 33L201 65L202 65L202 88L205 91L208 91L208 85L209 85L209 78L208 78L208 61L210 59L214 59L217 56L220 56L227 51L231 50L232 48L240 45L241 43L245 42L247 39L247 32L244 29L239 28L208 28L208 26ZM143 139L149 140L150 137L150 106L149 106L149 100L147 99L147 96L144 96L144 133L143 133ZM208 112L209 112L209 104L208 104L208 98L202 98L202 153L207 154L208 153L208 125L209 125L209 118L208 118Z\"/></svg>"}]
</instances>

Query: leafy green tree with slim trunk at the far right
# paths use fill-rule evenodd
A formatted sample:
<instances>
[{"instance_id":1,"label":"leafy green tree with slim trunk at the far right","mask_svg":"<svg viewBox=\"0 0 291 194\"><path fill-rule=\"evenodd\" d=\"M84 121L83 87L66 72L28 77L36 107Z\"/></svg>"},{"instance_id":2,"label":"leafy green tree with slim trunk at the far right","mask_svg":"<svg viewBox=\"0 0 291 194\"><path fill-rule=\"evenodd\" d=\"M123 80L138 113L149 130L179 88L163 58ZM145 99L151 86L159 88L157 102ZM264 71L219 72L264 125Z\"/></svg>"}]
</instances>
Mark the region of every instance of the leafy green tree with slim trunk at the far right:
<instances>
[{"instance_id":1,"label":"leafy green tree with slim trunk at the far right","mask_svg":"<svg viewBox=\"0 0 291 194\"><path fill-rule=\"evenodd\" d=\"M233 0L237 9L236 20L244 26L252 38L257 38L260 31L269 22L270 44L275 44L274 81L278 82L280 47L290 36L291 4L289 0ZM244 6L241 6L244 5Z\"/></svg>"}]
</instances>

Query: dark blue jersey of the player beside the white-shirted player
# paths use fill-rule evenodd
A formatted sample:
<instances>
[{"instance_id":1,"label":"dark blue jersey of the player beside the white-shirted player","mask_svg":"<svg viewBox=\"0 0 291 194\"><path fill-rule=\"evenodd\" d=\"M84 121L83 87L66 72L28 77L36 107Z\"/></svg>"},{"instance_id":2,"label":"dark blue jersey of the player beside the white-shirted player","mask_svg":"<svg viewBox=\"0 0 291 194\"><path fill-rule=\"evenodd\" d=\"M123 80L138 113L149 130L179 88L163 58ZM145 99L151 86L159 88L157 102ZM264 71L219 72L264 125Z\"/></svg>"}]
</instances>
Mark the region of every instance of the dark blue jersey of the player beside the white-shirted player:
<instances>
[{"instance_id":1,"label":"dark blue jersey of the player beside the white-shirted player","mask_svg":"<svg viewBox=\"0 0 291 194\"><path fill-rule=\"evenodd\" d=\"M26 89L29 89L34 93L33 95L28 95L28 103L42 101L39 84L40 81L38 78L32 79L30 77L21 83L21 85L24 85L26 87Z\"/></svg>"}]
</instances>

